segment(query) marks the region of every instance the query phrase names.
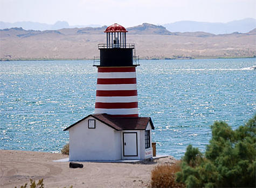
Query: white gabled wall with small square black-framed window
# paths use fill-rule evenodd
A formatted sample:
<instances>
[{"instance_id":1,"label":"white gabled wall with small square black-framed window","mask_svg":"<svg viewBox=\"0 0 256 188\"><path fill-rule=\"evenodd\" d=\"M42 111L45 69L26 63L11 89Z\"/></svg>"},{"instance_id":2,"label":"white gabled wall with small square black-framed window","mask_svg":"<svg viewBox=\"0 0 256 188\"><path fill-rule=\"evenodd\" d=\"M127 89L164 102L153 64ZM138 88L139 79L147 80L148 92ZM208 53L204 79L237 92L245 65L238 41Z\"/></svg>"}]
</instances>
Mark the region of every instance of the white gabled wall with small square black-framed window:
<instances>
[{"instance_id":1,"label":"white gabled wall with small square black-framed window","mask_svg":"<svg viewBox=\"0 0 256 188\"><path fill-rule=\"evenodd\" d=\"M71 127L70 161L120 160L121 132L95 120L95 129L88 128L87 119Z\"/></svg>"}]
</instances>

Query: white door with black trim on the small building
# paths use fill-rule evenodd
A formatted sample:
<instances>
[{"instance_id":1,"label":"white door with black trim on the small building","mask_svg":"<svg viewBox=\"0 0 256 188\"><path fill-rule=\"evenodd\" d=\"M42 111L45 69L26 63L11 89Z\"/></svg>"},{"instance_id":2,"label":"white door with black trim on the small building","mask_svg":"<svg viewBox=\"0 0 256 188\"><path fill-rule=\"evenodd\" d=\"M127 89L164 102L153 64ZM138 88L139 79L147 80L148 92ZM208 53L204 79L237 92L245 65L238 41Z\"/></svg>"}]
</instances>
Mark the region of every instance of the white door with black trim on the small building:
<instances>
[{"instance_id":1,"label":"white door with black trim on the small building","mask_svg":"<svg viewBox=\"0 0 256 188\"><path fill-rule=\"evenodd\" d=\"M123 133L123 156L138 156L137 133Z\"/></svg>"}]
</instances>

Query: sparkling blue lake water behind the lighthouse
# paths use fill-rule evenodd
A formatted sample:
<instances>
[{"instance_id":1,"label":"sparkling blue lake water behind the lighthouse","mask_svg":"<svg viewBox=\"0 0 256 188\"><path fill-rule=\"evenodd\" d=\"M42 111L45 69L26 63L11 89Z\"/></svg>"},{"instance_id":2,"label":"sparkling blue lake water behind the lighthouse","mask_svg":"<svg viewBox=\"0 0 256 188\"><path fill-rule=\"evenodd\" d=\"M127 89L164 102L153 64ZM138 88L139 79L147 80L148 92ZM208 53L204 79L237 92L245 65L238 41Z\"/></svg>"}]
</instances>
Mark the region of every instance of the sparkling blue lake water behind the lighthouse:
<instances>
[{"instance_id":1,"label":"sparkling blue lake water behind the lighthouse","mask_svg":"<svg viewBox=\"0 0 256 188\"><path fill-rule=\"evenodd\" d=\"M148 60L137 71L139 115L151 117L157 154L205 151L210 125L237 128L256 112L256 59ZM94 112L93 61L0 62L0 149L60 152L63 129Z\"/></svg>"}]
</instances>

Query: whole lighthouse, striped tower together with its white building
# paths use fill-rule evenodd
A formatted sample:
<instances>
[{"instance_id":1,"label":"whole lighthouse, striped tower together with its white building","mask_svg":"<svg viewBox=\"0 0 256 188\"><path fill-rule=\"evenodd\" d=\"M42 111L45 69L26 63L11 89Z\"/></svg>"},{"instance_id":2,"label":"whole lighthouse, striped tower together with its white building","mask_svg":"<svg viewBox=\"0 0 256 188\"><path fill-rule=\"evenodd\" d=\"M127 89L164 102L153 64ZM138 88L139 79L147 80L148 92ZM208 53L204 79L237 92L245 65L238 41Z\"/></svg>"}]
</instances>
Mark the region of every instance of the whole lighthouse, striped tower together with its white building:
<instances>
[{"instance_id":1,"label":"whole lighthouse, striped tower together with its white building","mask_svg":"<svg viewBox=\"0 0 256 188\"><path fill-rule=\"evenodd\" d=\"M119 24L106 28L99 57L95 112L64 129L69 132L70 161L143 160L153 157L150 117L139 117L135 45ZM88 83L89 84L89 83Z\"/></svg>"}]
</instances>

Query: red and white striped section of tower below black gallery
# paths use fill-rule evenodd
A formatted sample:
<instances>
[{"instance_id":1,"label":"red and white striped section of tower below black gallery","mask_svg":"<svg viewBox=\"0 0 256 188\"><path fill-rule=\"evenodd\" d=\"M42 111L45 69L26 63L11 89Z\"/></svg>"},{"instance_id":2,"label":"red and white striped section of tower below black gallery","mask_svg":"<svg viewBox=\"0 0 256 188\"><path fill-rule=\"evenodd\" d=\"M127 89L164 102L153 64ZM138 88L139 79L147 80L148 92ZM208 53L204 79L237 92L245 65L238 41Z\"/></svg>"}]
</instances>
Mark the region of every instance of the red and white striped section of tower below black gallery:
<instances>
[{"instance_id":1,"label":"red and white striped section of tower below black gallery","mask_svg":"<svg viewBox=\"0 0 256 188\"><path fill-rule=\"evenodd\" d=\"M95 113L138 117L135 67L98 67Z\"/></svg>"}]
</instances>

